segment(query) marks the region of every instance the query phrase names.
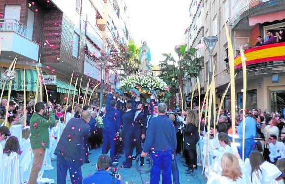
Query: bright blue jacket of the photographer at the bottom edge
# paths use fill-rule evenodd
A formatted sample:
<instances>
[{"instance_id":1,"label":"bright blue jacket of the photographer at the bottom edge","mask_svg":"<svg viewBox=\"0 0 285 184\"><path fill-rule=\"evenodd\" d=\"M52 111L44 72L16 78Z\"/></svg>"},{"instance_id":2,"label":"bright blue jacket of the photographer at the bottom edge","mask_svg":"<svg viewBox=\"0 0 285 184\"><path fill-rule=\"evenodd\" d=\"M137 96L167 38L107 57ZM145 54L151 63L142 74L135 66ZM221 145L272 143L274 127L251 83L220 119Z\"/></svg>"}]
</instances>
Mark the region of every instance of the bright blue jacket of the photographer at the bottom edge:
<instances>
[{"instance_id":1,"label":"bright blue jacket of the photographer at the bottom edge","mask_svg":"<svg viewBox=\"0 0 285 184\"><path fill-rule=\"evenodd\" d=\"M121 181L115 179L115 184L121 184ZM98 170L90 177L84 178L83 184L112 184L112 176L105 170Z\"/></svg>"}]
</instances>

